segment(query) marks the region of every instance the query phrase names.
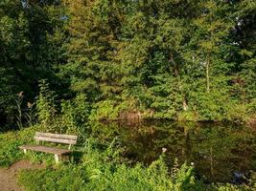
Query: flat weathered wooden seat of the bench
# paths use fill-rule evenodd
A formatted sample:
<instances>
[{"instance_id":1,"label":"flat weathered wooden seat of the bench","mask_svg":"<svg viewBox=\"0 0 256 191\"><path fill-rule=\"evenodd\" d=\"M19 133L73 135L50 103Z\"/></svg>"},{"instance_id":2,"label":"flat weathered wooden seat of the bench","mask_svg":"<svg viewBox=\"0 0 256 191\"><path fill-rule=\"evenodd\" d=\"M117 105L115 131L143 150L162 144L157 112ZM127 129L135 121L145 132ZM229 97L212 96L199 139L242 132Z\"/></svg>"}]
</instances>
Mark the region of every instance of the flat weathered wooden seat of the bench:
<instances>
[{"instance_id":1,"label":"flat weathered wooden seat of the bench","mask_svg":"<svg viewBox=\"0 0 256 191\"><path fill-rule=\"evenodd\" d=\"M20 146L19 148L33 150L33 151L39 151L39 152L44 152L44 153L51 153L51 154L56 154L56 155L64 155L64 154L69 154L72 152L67 149L59 149L59 148L40 146L40 145L24 145L24 146Z\"/></svg>"}]
</instances>

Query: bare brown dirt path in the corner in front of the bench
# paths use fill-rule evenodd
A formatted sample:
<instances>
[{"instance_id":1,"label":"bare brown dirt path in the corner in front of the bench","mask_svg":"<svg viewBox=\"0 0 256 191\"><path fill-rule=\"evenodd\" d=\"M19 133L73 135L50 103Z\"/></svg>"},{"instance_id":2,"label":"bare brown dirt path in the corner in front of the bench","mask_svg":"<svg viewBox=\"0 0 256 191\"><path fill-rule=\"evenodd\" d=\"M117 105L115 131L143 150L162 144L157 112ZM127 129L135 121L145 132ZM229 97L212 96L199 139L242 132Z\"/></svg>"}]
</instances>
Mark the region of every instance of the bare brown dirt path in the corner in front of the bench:
<instances>
[{"instance_id":1,"label":"bare brown dirt path in the corner in front of the bench","mask_svg":"<svg viewBox=\"0 0 256 191\"><path fill-rule=\"evenodd\" d=\"M0 190L1 191L22 191L17 185L16 176L19 170L42 168L42 165L31 164L27 160L20 160L11 167L0 168Z\"/></svg>"}]
</instances>

